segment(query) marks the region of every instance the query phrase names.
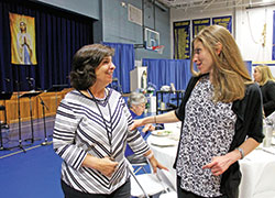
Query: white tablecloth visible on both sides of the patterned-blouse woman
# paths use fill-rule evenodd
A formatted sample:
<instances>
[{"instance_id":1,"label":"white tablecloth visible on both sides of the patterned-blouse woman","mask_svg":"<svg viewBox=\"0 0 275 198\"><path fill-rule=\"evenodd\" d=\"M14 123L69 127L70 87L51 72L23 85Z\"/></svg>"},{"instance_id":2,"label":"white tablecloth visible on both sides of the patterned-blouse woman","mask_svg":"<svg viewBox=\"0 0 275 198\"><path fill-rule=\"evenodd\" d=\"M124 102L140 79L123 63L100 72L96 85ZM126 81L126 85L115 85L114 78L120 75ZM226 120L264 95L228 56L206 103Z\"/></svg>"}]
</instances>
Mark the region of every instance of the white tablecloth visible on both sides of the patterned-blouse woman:
<instances>
[{"instance_id":1,"label":"white tablecloth visible on both sides of the patterned-blouse woman","mask_svg":"<svg viewBox=\"0 0 275 198\"><path fill-rule=\"evenodd\" d=\"M165 130L174 130L176 134L179 134L178 124L165 125ZM166 177L176 189L176 172L173 164L178 141L175 141L175 146L152 145L157 141L164 142L165 139L170 143L169 136L155 135L148 136L147 142L157 161L169 169ZM239 198L275 198L275 147L265 148L260 146L239 163L242 172Z\"/></svg>"}]
</instances>

